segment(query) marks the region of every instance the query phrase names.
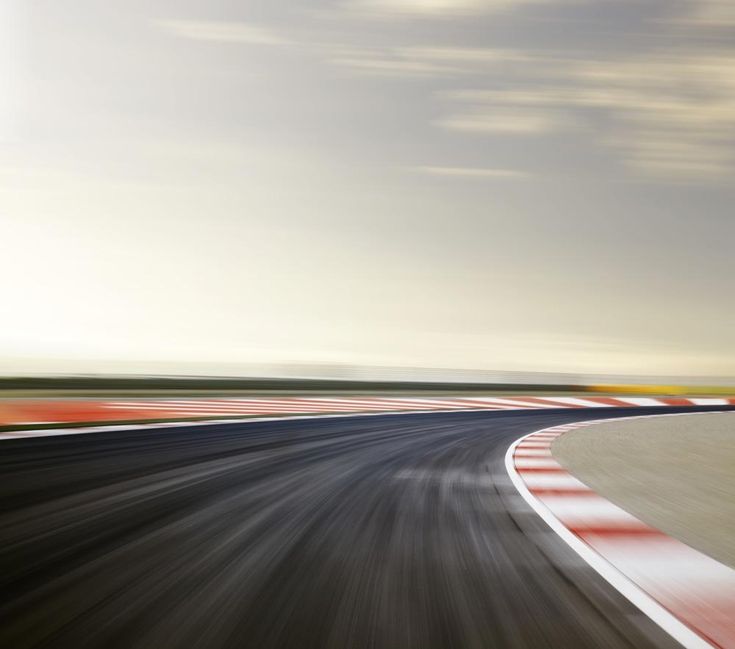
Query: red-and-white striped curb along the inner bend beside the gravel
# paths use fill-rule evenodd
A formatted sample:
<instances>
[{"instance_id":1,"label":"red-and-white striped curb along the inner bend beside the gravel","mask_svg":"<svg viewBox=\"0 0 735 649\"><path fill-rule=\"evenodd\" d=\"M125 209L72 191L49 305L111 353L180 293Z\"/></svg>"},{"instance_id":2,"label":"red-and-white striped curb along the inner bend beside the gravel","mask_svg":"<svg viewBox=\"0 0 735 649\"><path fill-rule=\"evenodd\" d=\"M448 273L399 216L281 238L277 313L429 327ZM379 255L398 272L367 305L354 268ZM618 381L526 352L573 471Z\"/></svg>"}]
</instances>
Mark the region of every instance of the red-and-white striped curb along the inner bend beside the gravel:
<instances>
[{"instance_id":1,"label":"red-and-white striped curb along the inner bend beside the gravel","mask_svg":"<svg viewBox=\"0 0 735 649\"><path fill-rule=\"evenodd\" d=\"M553 458L557 437L609 421L552 426L522 437L505 456L513 484L577 554L684 647L735 648L735 570L646 525Z\"/></svg>"}]
</instances>

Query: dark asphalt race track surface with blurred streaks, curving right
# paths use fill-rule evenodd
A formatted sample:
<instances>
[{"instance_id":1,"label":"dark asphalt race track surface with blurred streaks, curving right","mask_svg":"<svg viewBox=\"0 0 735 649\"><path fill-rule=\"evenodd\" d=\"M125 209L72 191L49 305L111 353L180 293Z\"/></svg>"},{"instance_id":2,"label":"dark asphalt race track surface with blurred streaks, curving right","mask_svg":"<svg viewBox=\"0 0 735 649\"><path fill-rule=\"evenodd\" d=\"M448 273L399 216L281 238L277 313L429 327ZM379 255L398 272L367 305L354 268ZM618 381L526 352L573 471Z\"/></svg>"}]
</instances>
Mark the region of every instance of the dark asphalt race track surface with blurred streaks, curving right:
<instances>
[{"instance_id":1,"label":"dark asphalt race track surface with blurred streaks, curving right","mask_svg":"<svg viewBox=\"0 0 735 649\"><path fill-rule=\"evenodd\" d=\"M677 410L2 442L0 647L678 646L546 527L503 463L539 428Z\"/></svg>"}]
</instances>

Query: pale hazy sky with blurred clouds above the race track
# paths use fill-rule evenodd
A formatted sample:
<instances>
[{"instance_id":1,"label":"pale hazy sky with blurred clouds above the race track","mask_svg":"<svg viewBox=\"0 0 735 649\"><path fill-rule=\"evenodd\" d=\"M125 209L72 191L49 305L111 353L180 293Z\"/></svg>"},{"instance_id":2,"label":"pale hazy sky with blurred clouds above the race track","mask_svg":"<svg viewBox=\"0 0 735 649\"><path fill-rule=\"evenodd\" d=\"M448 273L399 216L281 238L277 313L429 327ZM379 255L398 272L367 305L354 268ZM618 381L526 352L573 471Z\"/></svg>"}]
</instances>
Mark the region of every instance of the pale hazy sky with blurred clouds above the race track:
<instances>
[{"instance_id":1,"label":"pale hazy sky with blurred clouds above the race track","mask_svg":"<svg viewBox=\"0 0 735 649\"><path fill-rule=\"evenodd\" d=\"M735 376L735 0L0 7L0 374Z\"/></svg>"}]
</instances>

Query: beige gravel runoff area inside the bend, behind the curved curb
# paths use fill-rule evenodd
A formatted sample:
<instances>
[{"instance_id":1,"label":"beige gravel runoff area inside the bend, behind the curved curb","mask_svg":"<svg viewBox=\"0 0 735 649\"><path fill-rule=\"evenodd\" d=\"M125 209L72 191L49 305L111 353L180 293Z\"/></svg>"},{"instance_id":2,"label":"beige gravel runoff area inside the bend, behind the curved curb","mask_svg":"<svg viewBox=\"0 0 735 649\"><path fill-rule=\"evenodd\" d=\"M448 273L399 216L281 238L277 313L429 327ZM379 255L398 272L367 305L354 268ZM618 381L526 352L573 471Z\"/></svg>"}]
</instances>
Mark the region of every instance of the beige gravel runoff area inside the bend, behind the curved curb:
<instances>
[{"instance_id":1,"label":"beige gravel runoff area inside the bend, behind the curved curb","mask_svg":"<svg viewBox=\"0 0 735 649\"><path fill-rule=\"evenodd\" d=\"M735 412L610 421L554 457L643 522L735 568Z\"/></svg>"}]
</instances>

